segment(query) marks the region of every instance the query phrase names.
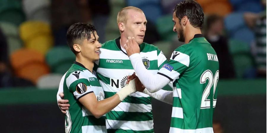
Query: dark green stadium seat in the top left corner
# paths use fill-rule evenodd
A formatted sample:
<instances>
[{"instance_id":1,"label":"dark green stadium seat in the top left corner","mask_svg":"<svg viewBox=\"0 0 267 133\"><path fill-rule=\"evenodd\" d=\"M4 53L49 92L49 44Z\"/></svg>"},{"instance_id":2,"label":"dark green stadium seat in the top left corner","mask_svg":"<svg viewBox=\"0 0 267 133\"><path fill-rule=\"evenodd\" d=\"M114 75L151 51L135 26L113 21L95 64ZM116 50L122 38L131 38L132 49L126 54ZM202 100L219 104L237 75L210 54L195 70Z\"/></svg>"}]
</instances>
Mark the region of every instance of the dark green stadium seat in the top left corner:
<instances>
[{"instance_id":1,"label":"dark green stadium seat in the top left corner","mask_svg":"<svg viewBox=\"0 0 267 133\"><path fill-rule=\"evenodd\" d=\"M20 25L25 20L20 0L0 0L0 21Z\"/></svg>"}]
</instances>

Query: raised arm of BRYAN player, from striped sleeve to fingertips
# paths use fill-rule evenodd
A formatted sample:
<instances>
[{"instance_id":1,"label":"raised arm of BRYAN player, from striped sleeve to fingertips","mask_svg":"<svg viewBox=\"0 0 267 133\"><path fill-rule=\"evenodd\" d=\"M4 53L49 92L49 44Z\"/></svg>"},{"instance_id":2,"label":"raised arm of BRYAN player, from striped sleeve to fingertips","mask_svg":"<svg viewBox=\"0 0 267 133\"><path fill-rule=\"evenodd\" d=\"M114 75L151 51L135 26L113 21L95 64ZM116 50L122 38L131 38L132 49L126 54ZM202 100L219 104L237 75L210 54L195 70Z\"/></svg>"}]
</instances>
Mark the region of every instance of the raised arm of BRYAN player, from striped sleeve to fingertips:
<instances>
[{"instance_id":1,"label":"raised arm of BRYAN player, from striped sleeve to fingertips","mask_svg":"<svg viewBox=\"0 0 267 133\"><path fill-rule=\"evenodd\" d=\"M171 60L168 61L167 64L164 64L163 68L159 70L158 74L152 74L142 64L142 59L139 54L140 48L135 42L135 39L129 38L125 45L125 49L131 60L132 66L139 77L139 80L150 93L160 90L170 81L174 82L179 78L180 73L184 72L189 65L188 55L181 53L182 56L177 57L177 55L180 53L178 51L174 51L171 56ZM182 65L180 65L181 63L179 63L179 61L182 62Z\"/></svg>"}]
</instances>

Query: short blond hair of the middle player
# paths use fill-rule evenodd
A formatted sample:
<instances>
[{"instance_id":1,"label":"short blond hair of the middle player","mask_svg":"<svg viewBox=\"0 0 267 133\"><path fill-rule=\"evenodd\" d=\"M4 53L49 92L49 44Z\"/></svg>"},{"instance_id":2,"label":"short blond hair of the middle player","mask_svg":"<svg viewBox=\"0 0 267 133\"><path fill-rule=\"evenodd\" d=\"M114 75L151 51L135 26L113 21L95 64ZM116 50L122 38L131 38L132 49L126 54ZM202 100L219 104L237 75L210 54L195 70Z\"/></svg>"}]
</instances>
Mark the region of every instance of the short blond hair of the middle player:
<instances>
[{"instance_id":1,"label":"short blond hair of the middle player","mask_svg":"<svg viewBox=\"0 0 267 133\"><path fill-rule=\"evenodd\" d=\"M133 9L135 11L143 12L140 8L137 8L137 7L124 7L123 9L120 10L120 12L117 15L117 24L119 24L121 22L126 24L126 22L127 22L127 11L129 9Z\"/></svg>"}]
</instances>

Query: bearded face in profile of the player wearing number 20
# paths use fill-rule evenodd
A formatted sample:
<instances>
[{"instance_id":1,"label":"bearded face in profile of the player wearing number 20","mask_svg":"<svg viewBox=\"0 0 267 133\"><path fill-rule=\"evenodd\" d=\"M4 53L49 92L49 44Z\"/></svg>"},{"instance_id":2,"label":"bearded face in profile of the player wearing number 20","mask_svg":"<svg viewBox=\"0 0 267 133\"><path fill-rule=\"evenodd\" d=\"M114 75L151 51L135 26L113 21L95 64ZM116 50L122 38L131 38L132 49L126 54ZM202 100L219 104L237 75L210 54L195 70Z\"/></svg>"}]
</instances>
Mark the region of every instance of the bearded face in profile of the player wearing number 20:
<instances>
[{"instance_id":1,"label":"bearded face in profile of the player wearing number 20","mask_svg":"<svg viewBox=\"0 0 267 133\"><path fill-rule=\"evenodd\" d=\"M176 17L175 12L172 15L172 21L174 22L173 31L178 34L178 40L180 42L185 42L184 30L182 29L180 20Z\"/></svg>"}]
</instances>

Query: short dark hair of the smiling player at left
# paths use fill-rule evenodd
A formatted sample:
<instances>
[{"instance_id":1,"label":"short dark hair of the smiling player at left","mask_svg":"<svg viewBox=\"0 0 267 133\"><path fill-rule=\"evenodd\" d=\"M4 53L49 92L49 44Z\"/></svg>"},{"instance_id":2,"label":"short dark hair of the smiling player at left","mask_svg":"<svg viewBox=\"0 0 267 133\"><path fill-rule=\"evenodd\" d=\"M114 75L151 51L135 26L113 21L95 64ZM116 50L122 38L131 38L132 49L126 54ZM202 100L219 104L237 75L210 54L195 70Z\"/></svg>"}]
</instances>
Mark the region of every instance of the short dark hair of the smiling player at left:
<instances>
[{"instance_id":1,"label":"short dark hair of the smiling player at left","mask_svg":"<svg viewBox=\"0 0 267 133\"><path fill-rule=\"evenodd\" d=\"M75 40L84 40L85 38L89 40L91 38L91 34L96 38L94 32L96 31L96 27L92 24L86 23L75 23L71 25L67 31L67 44L70 47L71 51L76 55L77 51L74 50L73 45Z\"/></svg>"}]
</instances>

